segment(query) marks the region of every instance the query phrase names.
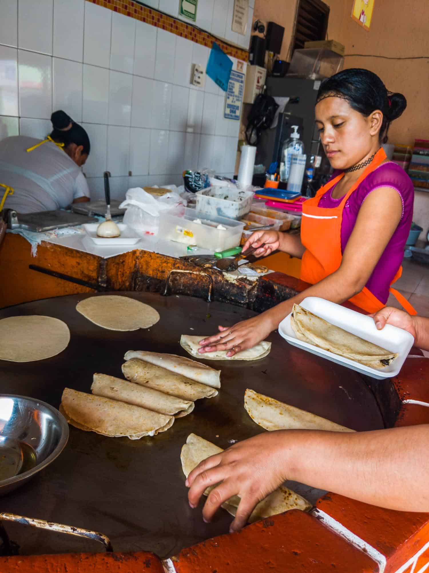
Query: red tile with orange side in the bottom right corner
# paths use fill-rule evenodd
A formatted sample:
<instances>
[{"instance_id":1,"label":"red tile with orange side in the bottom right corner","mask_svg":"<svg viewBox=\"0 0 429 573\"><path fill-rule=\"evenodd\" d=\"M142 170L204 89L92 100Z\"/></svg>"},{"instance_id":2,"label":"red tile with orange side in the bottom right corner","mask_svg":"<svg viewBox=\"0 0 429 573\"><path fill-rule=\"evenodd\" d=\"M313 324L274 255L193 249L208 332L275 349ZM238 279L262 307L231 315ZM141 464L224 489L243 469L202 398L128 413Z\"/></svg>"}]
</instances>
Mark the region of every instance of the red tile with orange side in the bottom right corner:
<instances>
[{"instance_id":1,"label":"red tile with orange side in the bottom right corner","mask_svg":"<svg viewBox=\"0 0 429 573\"><path fill-rule=\"evenodd\" d=\"M429 513L383 509L328 493L316 504L385 555L385 573L394 573L429 541Z\"/></svg>"}]
</instances>

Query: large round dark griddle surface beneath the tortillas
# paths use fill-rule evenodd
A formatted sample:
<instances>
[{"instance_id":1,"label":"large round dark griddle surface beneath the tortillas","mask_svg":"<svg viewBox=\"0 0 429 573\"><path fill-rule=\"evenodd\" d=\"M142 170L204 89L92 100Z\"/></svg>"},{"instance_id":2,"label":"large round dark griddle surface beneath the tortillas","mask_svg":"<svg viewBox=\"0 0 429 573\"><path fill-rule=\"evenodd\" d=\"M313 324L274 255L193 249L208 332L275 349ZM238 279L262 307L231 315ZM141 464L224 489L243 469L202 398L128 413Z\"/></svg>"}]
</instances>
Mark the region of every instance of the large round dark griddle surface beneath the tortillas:
<instances>
[{"instance_id":1,"label":"large round dark griddle surface beneath the tortillas","mask_svg":"<svg viewBox=\"0 0 429 573\"><path fill-rule=\"evenodd\" d=\"M27 363L0 360L1 392L58 407L66 386L89 393L94 372L122 378L127 350L190 358L179 345L183 333L210 335L218 324L231 325L255 315L233 305L186 296L115 294L152 305L160 314L159 323L133 332L98 327L75 309L78 301L93 295L39 300L0 311L0 318L54 316L68 324L71 335L68 348L53 358ZM269 340L271 353L259 361L207 360L209 366L222 370L218 397L197 401L192 414L176 419L162 434L131 441L70 427L69 443L61 456L23 488L3 497L2 511L100 531L116 551L150 550L166 557L229 529L232 517L225 511L219 511L214 523L205 524L202 504L194 510L189 507L180 449L191 432L227 448L233 440L265 431L243 407L246 388L355 430L383 427L375 398L359 374L290 346L277 332ZM317 497L317 491L306 486L294 484L294 489L310 501ZM21 545L21 554L97 550L95 543L75 537L6 526L11 539Z\"/></svg>"}]
</instances>

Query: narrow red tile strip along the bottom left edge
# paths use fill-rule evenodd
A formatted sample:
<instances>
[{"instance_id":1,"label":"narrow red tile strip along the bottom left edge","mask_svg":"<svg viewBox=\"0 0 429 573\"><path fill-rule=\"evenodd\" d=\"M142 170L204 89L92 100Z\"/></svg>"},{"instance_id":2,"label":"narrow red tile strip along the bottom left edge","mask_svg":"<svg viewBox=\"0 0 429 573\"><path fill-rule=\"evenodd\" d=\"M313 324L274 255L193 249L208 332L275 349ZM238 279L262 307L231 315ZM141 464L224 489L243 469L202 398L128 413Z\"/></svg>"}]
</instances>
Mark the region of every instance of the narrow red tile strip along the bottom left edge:
<instances>
[{"instance_id":1,"label":"narrow red tile strip along the bottom left edge","mask_svg":"<svg viewBox=\"0 0 429 573\"><path fill-rule=\"evenodd\" d=\"M164 573L153 553L76 553L0 557L2 573Z\"/></svg>"}]
</instances>

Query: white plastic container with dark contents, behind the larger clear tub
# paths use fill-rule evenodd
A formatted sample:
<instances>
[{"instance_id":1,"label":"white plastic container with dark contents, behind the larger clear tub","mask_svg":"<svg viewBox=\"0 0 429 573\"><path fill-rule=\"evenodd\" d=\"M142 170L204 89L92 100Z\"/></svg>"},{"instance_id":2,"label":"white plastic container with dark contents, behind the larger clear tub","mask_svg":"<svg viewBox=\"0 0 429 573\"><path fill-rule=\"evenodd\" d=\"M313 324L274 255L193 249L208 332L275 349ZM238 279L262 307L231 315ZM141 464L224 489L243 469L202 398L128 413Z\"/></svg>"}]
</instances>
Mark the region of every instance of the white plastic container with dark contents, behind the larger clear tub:
<instances>
[{"instance_id":1,"label":"white plastic container with dark contents, behind the larger clear tub","mask_svg":"<svg viewBox=\"0 0 429 573\"><path fill-rule=\"evenodd\" d=\"M197 191L196 210L208 217L241 219L250 211L253 191L239 191L229 187L208 187Z\"/></svg>"}]
</instances>

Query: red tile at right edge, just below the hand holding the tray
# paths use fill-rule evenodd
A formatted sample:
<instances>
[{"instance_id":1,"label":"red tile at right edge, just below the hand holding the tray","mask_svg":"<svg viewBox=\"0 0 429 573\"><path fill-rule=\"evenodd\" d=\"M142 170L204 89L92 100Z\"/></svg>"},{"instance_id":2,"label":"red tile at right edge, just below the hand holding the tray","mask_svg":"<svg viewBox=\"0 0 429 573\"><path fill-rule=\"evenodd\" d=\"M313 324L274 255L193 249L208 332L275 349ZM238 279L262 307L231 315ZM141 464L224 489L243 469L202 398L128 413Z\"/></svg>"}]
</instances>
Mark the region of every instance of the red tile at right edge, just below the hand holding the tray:
<instances>
[{"instance_id":1,"label":"red tile at right edge, just below the hand holding the tray","mask_svg":"<svg viewBox=\"0 0 429 573\"><path fill-rule=\"evenodd\" d=\"M419 400L429 403L429 360L408 358L399 375L392 378L401 400Z\"/></svg>"}]
</instances>

